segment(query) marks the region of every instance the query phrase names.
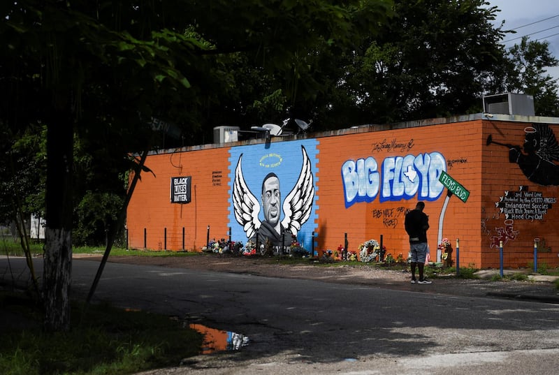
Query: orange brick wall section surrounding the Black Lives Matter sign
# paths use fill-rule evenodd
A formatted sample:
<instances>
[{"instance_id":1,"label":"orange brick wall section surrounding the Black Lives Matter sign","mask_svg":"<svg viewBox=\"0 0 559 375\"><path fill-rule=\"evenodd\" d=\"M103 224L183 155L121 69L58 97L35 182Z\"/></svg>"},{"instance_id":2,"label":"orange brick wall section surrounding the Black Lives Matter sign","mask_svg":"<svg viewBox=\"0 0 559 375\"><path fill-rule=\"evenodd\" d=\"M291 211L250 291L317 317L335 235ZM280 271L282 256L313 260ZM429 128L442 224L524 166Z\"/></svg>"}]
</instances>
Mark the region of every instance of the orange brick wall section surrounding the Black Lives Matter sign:
<instances>
[{"instance_id":1,"label":"orange brick wall section surrounding the Black Lives Matter sign","mask_svg":"<svg viewBox=\"0 0 559 375\"><path fill-rule=\"evenodd\" d=\"M228 236L228 149L203 149L147 157L143 172L129 203L126 223L129 246L147 249L200 250L210 238ZM170 203L170 178L191 176L191 203Z\"/></svg>"}]
</instances>

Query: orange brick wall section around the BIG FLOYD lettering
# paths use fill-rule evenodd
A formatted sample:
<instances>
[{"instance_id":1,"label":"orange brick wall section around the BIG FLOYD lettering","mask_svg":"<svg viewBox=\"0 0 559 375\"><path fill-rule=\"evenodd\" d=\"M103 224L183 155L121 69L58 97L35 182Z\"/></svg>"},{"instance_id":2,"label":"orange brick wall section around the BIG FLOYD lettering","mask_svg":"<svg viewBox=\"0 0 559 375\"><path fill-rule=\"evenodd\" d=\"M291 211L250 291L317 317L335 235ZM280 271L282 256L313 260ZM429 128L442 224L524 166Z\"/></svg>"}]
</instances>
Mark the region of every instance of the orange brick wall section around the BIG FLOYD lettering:
<instances>
[{"instance_id":1,"label":"orange brick wall section around the BIG FLOYD lettering","mask_svg":"<svg viewBox=\"0 0 559 375\"><path fill-rule=\"evenodd\" d=\"M345 159L359 159L372 156L379 165L389 156L418 155L440 152L447 161L447 172L460 184L470 190L467 203L451 197L444 214L442 238L448 237L455 247L460 239L462 262L480 263L479 218L481 201L481 133L479 122L465 122L440 126L424 126L394 131L358 133L344 137L321 138L319 158L319 181L321 198L319 212L319 247L335 248L343 242L342 235L348 233L350 250L356 250L365 240L380 240L387 253L394 258L402 254L405 258L409 242L405 234L404 216L406 209L413 209L417 198L409 200L379 202L379 198L369 203L355 203L344 207L339 196L340 165ZM405 147L389 147L391 143ZM324 198L328 196L329 198ZM446 189L437 200L426 201L425 212L429 216L428 241L430 256L437 256L437 237L442 205ZM324 228L324 229L323 229ZM465 249L468 249L465 251ZM462 263L464 265L464 263Z\"/></svg>"}]
</instances>

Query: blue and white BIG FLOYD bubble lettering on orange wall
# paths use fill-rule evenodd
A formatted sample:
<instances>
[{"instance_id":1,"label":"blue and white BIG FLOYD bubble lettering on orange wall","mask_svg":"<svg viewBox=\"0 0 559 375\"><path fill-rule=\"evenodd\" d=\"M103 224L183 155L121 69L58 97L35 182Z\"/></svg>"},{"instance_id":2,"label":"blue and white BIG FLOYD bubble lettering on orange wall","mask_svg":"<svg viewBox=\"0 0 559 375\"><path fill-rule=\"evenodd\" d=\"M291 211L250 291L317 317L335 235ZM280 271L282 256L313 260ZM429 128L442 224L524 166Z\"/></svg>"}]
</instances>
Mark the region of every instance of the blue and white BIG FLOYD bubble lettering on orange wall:
<instances>
[{"instance_id":1,"label":"blue and white BIG FLOYD bubble lettering on orange wall","mask_svg":"<svg viewBox=\"0 0 559 375\"><path fill-rule=\"evenodd\" d=\"M409 200L416 195L421 200L435 200L444 190L439 175L446 168L444 156L439 152L388 157L382 162L382 179L372 156L345 161L342 165L345 205L372 202L379 192L380 202Z\"/></svg>"}]
</instances>

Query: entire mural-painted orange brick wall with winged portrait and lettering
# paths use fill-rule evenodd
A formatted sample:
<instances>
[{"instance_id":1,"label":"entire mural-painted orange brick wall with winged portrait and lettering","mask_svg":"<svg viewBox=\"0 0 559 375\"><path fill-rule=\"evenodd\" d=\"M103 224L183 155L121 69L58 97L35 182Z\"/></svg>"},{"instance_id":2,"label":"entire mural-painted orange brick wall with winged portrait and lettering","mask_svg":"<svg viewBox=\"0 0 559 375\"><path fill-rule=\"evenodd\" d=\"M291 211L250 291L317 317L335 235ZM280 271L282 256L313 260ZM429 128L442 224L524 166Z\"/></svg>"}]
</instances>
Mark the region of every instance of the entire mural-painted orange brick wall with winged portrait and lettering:
<instances>
[{"instance_id":1,"label":"entire mural-painted orange brick wall with winged portrait and lettering","mask_svg":"<svg viewBox=\"0 0 559 375\"><path fill-rule=\"evenodd\" d=\"M559 119L467 115L273 136L147 157L128 207L129 246L201 251L211 240L296 240L321 255L382 236L407 258L404 216L421 200L430 259L559 265ZM169 191L171 191L169 198Z\"/></svg>"}]
</instances>

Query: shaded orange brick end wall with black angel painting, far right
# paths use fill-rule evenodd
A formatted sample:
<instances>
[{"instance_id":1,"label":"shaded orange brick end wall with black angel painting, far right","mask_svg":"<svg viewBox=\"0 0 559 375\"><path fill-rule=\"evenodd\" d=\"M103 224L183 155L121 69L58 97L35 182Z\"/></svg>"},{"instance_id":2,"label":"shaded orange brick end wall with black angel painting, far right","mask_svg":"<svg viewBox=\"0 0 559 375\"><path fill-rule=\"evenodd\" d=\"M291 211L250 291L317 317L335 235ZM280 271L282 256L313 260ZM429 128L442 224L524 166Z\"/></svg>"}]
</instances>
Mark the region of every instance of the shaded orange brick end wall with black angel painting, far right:
<instances>
[{"instance_id":1,"label":"shaded orange brick end wall with black angel painting, far right","mask_svg":"<svg viewBox=\"0 0 559 375\"><path fill-rule=\"evenodd\" d=\"M531 127L532 124L486 121L484 138L487 139L488 135L491 135L495 142L522 146L525 140L524 129L527 126ZM558 125L549 125L549 128L555 135L559 134ZM506 191L509 191L509 195L513 197L516 193L524 195L524 192L534 192L541 194L542 198L553 201L558 197L558 186L544 186L530 182L518 164L509 161L509 147L484 144L481 154L484 160L482 188L484 212L481 216L482 263L486 267L500 266L500 242L502 241L504 264L514 267L528 265L533 267L534 240L539 238L541 241L537 251L538 265L558 265L559 214L556 203L551 203L551 208L545 209L541 219L526 218L524 209L519 209L518 218L509 216L507 219L506 213L500 212L500 207L495 207L500 199L506 196ZM521 186L523 192L520 192ZM526 198L525 203L538 204L536 200ZM516 203L512 205L518 207Z\"/></svg>"}]
</instances>

